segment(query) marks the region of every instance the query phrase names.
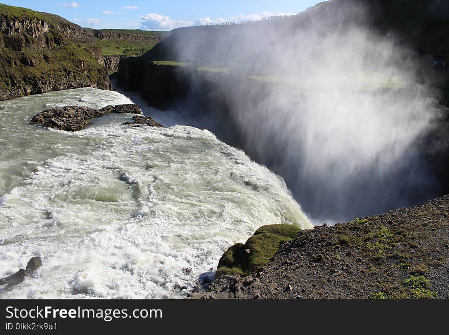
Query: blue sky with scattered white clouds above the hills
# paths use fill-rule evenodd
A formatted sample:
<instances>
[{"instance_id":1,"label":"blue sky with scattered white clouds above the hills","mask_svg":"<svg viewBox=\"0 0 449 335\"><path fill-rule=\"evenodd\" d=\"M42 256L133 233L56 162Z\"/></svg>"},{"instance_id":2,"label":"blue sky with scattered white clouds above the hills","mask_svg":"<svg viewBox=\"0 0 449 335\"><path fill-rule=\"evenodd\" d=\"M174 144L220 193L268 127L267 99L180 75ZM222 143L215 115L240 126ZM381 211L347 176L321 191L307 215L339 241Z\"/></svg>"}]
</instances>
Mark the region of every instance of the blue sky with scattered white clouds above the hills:
<instances>
[{"instance_id":1,"label":"blue sky with scattered white clouds above the hills","mask_svg":"<svg viewBox=\"0 0 449 335\"><path fill-rule=\"evenodd\" d=\"M171 30L186 25L258 20L272 15L297 14L320 2L317 0L0 1L7 5L55 13L82 27L144 30Z\"/></svg>"}]
</instances>

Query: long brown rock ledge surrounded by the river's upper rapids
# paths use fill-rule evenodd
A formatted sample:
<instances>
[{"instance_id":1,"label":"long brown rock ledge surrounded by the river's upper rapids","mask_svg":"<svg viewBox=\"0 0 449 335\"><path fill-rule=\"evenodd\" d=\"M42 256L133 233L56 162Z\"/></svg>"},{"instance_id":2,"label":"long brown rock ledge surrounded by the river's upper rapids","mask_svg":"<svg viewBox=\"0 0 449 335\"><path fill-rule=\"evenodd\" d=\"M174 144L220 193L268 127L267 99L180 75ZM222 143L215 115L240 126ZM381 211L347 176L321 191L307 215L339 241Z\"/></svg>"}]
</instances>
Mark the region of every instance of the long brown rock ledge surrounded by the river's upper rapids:
<instances>
[{"instance_id":1,"label":"long brown rock ledge surrounded by the river's upper rapids","mask_svg":"<svg viewBox=\"0 0 449 335\"><path fill-rule=\"evenodd\" d=\"M85 106L65 106L44 110L33 116L31 122L57 130L76 132L87 126L91 118L109 113L142 114L142 111L139 106L133 104L110 105L101 109L93 109Z\"/></svg>"}]
</instances>

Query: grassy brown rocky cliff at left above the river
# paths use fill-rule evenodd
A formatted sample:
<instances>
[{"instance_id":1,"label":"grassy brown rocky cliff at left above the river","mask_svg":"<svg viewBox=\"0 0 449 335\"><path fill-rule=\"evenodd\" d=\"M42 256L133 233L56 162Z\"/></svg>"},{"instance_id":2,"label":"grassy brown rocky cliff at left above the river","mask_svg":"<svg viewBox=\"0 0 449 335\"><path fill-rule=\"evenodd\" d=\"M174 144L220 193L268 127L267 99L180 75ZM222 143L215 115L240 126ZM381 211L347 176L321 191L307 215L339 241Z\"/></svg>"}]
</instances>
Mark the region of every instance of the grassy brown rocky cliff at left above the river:
<instances>
[{"instance_id":1,"label":"grassy brown rocky cliff at left above the river","mask_svg":"<svg viewBox=\"0 0 449 335\"><path fill-rule=\"evenodd\" d=\"M0 100L80 87L112 89L101 48L53 14L0 5Z\"/></svg>"}]
</instances>

